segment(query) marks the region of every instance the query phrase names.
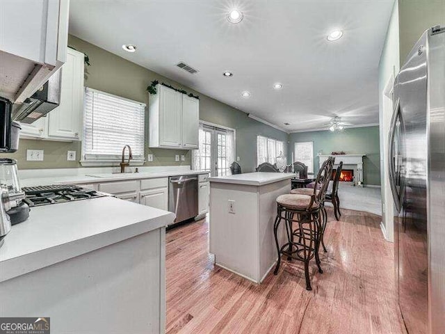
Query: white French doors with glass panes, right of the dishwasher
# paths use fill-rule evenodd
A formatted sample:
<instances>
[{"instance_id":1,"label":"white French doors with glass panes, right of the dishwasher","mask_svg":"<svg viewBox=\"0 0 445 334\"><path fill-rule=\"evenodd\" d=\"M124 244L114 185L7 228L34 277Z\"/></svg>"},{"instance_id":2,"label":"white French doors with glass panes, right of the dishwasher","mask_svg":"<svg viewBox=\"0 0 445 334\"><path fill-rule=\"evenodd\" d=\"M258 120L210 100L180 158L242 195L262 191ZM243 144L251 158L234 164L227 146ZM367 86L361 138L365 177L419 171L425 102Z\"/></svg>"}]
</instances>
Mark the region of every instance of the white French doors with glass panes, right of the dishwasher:
<instances>
[{"instance_id":1,"label":"white French doors with glass panes, right of the dishwasher","mask_svg":"<svg viewBox=\"0 0 445 334\"><path fill-rule=\"evenodd\" d=\"M230 164L235 159L235 130L200 122L200 148L192 153L195 170L212 176L230 175Z\"/></svg>"}]
</instances>

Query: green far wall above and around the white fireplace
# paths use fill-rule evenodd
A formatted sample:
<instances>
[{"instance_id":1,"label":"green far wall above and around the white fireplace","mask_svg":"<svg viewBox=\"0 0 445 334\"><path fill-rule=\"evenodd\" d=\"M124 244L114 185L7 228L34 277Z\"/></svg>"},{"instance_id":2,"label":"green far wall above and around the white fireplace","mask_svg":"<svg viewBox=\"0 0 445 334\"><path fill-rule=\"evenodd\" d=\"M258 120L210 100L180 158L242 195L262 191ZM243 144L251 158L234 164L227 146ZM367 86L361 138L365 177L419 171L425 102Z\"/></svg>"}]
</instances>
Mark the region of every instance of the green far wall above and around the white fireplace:
<instances>
[{"instance_id":1,"label":"green far wall above and around the white fireplace","mask_svg":"<svg viewBox=\"0 0 445 334\"><path fill-rule=\"evenodd\" d=\"M289 134L288 161L296 142L314 142L314 172L318 171L318 153L344 151L346 154L366 154L363 159L364 184L380 186L380 143L379 128L355 127L344 129L343 132L314 131L295 132Z\"/></svg>"}]
</instances>

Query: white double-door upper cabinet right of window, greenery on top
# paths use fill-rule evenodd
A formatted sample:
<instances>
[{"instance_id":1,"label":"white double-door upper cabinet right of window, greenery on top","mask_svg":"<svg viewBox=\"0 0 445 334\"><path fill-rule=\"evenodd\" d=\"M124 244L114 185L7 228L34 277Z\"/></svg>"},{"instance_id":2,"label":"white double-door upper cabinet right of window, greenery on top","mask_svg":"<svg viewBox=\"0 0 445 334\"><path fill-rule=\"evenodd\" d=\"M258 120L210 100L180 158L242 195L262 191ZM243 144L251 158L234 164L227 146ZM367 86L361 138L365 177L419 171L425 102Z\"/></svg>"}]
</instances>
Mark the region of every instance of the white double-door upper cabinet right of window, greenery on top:
<instances>
[{"instance_id":1,"label":"white double-door upper cabinet right of window, greenery on top","mask_svg":"<svg viewBox=\"0 0 445 334\"><path fill-rule=\"evenodd\" d=\"M200 101L157 85L149 102L149 147L197 149Z\"/></svg>"}]
</instances>

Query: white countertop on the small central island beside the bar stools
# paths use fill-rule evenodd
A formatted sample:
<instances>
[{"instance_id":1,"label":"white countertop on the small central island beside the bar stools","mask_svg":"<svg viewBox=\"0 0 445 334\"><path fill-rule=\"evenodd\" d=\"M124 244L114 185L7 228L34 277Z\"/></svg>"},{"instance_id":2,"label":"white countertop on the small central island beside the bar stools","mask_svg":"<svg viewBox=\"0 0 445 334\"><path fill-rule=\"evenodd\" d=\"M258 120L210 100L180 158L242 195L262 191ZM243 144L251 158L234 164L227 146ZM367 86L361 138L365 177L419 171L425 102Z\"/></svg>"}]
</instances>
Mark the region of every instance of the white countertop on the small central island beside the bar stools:
<instances>
[{"instance_id":1,"label":"white countertop on the small central island beside the bar stools","mask_svg":"<svg viewBox=\"0 0 445 334\"><path fill-rule=\"evenodd\" d=\"M231 184L247 184L249 186L263 186L279 182L282 180L290 180L295 177L295 173L245 173L236 175L227 175L219 177L209 177L210 182L231 183Z\"/></svg>"}]
</instances>

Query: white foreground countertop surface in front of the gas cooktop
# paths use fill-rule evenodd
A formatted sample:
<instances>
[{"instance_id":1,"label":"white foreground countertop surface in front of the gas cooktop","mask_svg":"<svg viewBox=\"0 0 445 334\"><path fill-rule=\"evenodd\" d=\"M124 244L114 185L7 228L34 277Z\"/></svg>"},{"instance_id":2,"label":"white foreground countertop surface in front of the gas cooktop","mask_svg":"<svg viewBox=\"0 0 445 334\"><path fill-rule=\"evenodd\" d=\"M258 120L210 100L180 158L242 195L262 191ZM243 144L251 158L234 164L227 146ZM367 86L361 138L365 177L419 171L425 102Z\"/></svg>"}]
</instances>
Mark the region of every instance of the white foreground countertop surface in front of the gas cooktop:
<instances>
[{"instance_id":1,"label":"white foreground countertop surface in front of the gas cooktop","mask_svg":"<svg viewBox=\"0 0 445 334\"><path fill-rule=\"evenodd\" d=\"M113 197L32 207L0 247L0 282L161 228L174 218Z\"/></svg>"}]
</instances>

